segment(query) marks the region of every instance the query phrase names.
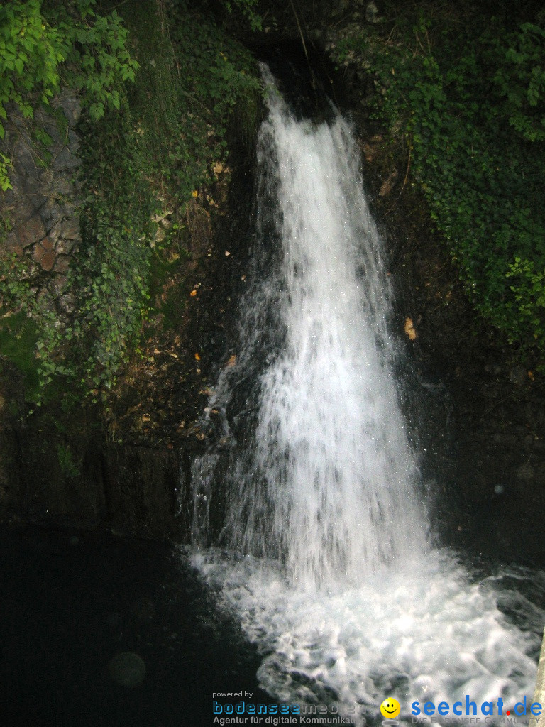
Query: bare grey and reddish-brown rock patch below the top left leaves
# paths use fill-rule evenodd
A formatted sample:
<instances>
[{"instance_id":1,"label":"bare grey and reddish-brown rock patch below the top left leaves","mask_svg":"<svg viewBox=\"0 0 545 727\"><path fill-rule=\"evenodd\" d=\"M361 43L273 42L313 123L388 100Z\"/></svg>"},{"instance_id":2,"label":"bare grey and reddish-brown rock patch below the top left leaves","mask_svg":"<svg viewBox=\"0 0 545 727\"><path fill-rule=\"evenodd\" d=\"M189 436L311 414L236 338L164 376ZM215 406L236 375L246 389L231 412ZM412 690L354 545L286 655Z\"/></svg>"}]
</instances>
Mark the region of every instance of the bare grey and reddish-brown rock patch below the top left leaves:
<instances>
[{"instance_id":1,"label":"bare grey and reddish-brown rock patch below the top left leaves","mask_svg":"<svg viewBox=\"0 0 545 727\"><path fill-rule=\"evenodd\" d=\"M79 139L74 127L81 113L78 97L63 92L50 110L36 112L34 128L49 136L33 138L28 120L10 108L5 122L4 153L12 159L12 190L0 198L0 215L12 229L0 244L26 258L28 278L39 292L47 288L54 299L64 284L70 256L80 241L78 199ZM62 301L60 307L62 309Z\"/></svg>"}]
</instances>

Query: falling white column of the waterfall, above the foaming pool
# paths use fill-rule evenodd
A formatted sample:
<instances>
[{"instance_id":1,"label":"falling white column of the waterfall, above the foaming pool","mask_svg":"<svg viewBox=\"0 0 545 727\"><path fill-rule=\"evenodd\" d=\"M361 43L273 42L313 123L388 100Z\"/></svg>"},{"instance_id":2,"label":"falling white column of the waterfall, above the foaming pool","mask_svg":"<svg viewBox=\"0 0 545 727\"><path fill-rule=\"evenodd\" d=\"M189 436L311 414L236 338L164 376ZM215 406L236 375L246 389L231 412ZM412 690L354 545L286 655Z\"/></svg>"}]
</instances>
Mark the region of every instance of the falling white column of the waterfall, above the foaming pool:
<instances>
[{"instance_id":1,"label":"falling white column of the waterfall, above the foaming pool","mask_svg":"<svg viewBox=\"0 0 545 727\"><path fill-rule=\"evenodd\" d=\"M358 583L425 545L392 376L389 278L347 122L297 121L264 73L258 244L272 229L281 250L246 300L239 369L267 335L259 328L282 335L249 451L223 483L224 539L282 558L300 586Z\"/></svg>"}]
</instances>

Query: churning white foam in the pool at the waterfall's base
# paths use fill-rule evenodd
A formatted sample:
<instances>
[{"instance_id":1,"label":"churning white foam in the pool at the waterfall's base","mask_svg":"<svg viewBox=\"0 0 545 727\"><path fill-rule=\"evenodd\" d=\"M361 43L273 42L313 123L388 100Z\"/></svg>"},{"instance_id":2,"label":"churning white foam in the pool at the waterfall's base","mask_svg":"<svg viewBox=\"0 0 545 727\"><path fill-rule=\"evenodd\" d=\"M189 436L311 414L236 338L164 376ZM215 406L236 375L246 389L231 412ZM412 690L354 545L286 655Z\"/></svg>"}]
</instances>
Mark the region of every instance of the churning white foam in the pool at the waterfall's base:
<instances>
[{"instance_id":1,"label":"churning white foam in the pool at the waterfall's base","mask_svg":"<svg viewBox=\"0 0 545 727\"><path fill-rule=\"evenodd\" d=\"M496 579L472 582L446 550L388 567L359 587L314 592L262 560L209 551L193 562L264 654L259 682L282 702L336 705L340 713L364 705L376 716L395 696L402 720L415 701L465 704L469 695L480 710L501 697L504 712L524 695L531 702L544 612ZM509 622L501 596L518 603L530 630Z\"/></svg>"}]
</instances>

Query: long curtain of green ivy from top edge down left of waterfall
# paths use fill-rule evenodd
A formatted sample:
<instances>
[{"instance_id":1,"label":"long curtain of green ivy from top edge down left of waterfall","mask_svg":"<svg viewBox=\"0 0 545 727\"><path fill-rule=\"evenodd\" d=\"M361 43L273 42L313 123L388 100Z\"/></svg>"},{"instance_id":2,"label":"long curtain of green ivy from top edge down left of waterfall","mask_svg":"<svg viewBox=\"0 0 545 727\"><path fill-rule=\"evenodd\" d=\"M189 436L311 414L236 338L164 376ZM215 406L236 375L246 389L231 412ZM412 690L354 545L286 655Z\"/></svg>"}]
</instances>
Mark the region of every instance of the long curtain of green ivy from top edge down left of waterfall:
<instances>
[{"instance_id":1,"label":"long curtain of green ivy from top edge down left of waterfall","mask_svg":"<svg viewBox=\"0 0 545 727\"><path fill-rule=\"evenodd\" d=\"M66 33L64 10L53 8L49 17L54 10L55 27ZM19 269L23 263L5 262L5 305L37 324L38 403L46 387L60 382L76 397L85 392L95 399L116 384L120 367L138 349L150 293L161 287L158 271L170 267L163 258L168 238L156 242L154 217L166 204L184 214L187 201L215 179L214 165L225 166L235 116L246 126L257 119L259 82L251 57L211 17L169 7L169 30L154 0L125 2L120 12L140 63L130 87L122 81L132 79L137 64L126 52L126 31L114 37L122 30L120 17L101 19L91 0L77 2L70 82L86 96L89 113L79 126L83 239L64 290L73 313L62 312L44 292L36 300ZM37 129L35 136L47 147L44 132Z\"/></svg>"}]
</instances>

